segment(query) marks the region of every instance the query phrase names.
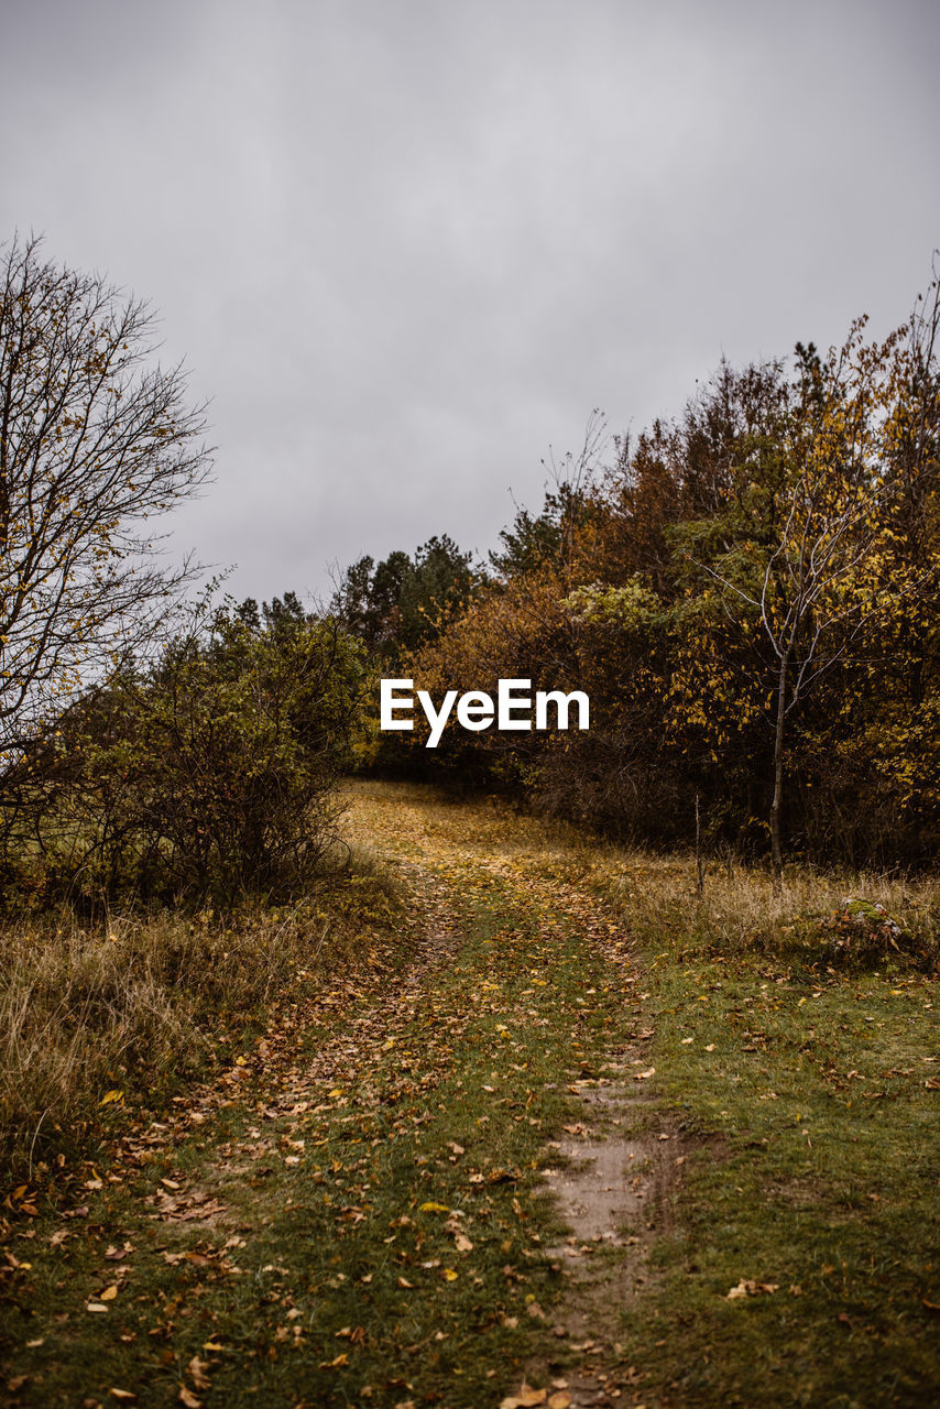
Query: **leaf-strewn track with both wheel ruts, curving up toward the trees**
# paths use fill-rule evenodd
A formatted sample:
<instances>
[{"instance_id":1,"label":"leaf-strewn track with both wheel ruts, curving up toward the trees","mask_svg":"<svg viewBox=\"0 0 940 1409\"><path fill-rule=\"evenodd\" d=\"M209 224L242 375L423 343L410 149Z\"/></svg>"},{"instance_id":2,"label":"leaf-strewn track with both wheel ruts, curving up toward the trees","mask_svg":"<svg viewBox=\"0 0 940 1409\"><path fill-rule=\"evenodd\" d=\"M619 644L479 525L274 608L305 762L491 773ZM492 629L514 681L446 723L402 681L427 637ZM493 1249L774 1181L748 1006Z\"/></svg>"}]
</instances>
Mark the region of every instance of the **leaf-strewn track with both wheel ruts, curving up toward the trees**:
<instances>
[{"instance_id":1,"label":"leaf-strewn track with both wheel ruts, curving up toward the trees","mask_svg":"<svg viewBox=\"0 0 940 1409\"><path fill-rule=\"evenodd\" d=\"M626 937L502 812L358 788L348 836L406 961L282 1005L24 1230L10 1405L638 1402L619 1330L682 1154Z\"/></svg>"}]
</instances>

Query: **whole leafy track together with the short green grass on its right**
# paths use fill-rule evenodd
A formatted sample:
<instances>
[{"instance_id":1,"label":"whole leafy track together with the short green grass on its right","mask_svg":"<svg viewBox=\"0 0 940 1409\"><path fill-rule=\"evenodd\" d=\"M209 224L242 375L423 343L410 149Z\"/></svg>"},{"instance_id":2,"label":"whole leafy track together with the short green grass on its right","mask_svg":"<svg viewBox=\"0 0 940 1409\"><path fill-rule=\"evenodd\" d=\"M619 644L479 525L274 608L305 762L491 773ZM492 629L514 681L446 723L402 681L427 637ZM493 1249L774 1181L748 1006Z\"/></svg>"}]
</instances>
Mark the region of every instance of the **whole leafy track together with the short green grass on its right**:
<instances>
[{"instance_id":1,"label":"whole leafy track together with the short green grass on its right","mask_svg":"<svg viewBox=\"0 0 940 1409\"><path fill-rule=\"evenodd\" d=\"M534 821L357 786L348 831L399 872L400 933L17 1224L10 1405L934 1402L916 1082L831 1102L784 1041L805 989L631 948ZM930 1030L906 998L865 999L898 1069Z\"/></svg>"}]
</instances>

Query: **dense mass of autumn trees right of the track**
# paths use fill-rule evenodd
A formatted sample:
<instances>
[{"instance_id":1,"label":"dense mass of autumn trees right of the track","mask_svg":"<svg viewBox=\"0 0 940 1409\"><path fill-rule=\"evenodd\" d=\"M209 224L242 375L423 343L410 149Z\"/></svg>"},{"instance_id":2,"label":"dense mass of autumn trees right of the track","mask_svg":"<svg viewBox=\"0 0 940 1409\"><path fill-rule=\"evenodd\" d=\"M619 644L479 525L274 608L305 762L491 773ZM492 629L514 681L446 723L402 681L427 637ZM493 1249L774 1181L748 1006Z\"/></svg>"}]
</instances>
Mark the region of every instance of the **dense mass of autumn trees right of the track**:
<instances>
[{"instance_id":1,"label":"dense mass of autumn trees right of the track","mask_svg":"<svg viewBox=\"0 0 940 1409\"><path fill-rule=\"evenodd\" d=\"M621 836L823 859L940 841L936 280L891 337L723 362L672 421L520 509L485 585L403 655L416 688L582 689L582 735L469 735L435 766ZM581 465L585 457L571 458ZM399 748L421 745L420 731Z\"/></svg>"}]
</instances>

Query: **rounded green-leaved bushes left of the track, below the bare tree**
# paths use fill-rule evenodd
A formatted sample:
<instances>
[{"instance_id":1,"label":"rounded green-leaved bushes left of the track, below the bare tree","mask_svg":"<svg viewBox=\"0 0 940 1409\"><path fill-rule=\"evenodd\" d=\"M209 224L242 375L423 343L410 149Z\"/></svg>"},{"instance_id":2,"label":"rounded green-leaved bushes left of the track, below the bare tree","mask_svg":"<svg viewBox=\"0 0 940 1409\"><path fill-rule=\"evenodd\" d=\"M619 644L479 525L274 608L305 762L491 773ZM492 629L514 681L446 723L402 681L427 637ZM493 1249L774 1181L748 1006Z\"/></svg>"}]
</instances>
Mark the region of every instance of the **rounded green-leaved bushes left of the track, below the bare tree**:
<instances>
[{"instance_id":1,"label":"rounded green-leaved bushes left of the track, below the bare tree","mask_svg":"<svg viewBox=\"0 0 940 1409\"><path fill-rule=\"evenodd\" d=\"M7 830L7 889L211 902L306 886L334 836L362 668L330 620L230 612L63 717Z\"/></svg>"}]
</instances>

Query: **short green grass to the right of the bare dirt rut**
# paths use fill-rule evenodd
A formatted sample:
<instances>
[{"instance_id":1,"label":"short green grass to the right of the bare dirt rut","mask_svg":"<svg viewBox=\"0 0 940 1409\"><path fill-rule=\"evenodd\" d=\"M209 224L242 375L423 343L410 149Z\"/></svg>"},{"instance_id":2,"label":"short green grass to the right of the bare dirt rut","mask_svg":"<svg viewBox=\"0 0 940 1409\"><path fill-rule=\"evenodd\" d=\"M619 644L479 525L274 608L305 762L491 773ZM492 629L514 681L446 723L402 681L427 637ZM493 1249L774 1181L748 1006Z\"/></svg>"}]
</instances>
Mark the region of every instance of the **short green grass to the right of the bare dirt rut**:
<instances>
[{"instance_id":1,"label":"short green grass to the right of the bare dirt rut","mask_svg":"<svg viewBox=\"0 0 940 1409\"><path fill-rule=\"evenodd\" d=\"M658 1246L661 1279L631 1317L664 1399L932 1403L929 986L867 976L808 993L740 957L654 962L660 1096L702 1138L684 1169L681 1230ZM729 1301L744 1279L777 1291ZM653 1360L651 1313L664 1340Z\"/></svg>"}]
</instances>

